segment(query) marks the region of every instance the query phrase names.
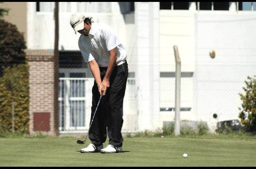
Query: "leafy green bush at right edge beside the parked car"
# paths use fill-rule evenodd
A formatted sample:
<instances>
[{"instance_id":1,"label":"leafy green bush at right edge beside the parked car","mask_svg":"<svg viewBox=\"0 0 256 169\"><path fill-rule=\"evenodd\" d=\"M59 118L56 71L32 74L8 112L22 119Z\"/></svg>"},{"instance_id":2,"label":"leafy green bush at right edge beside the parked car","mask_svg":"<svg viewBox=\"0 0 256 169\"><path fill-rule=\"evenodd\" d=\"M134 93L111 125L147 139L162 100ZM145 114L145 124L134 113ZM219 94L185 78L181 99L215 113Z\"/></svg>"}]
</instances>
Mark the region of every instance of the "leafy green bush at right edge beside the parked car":
<instances>
[{"instance_id":1,"label":"leafy green bush at right edge beside the parked car","mask_svg":"<svg viewBox=\"0 0 256 169\"><path fill-rule=\"evenodd\" d=\"M243 87L245 94L239 93L243 101L242 109L239 108L239 118L247 131L256 133L256 78L248 76L247 79L248 81L244 81L246 88Z\"/></svg>"}]
</instances>

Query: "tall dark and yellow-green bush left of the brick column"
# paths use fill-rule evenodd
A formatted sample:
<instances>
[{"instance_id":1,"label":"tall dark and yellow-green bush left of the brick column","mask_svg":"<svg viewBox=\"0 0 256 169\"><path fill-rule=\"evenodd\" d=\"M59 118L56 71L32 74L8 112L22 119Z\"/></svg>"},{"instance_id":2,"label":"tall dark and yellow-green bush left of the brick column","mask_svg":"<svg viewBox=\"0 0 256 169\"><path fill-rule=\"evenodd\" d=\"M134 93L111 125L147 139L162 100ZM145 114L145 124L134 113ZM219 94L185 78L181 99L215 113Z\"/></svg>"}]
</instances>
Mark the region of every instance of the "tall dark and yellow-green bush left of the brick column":
<instances>
[{"instance_id":1,"label":"tall dark and yellow-green bush left of the brick column","mask_svg":"<svg viewBox=\"0 0 256 169\"><path fill-rule=\"evenodd\" d=\"M4 12L6 9L0 8L0 16ZM28 132L29 73L25 48L23 34L17 27L0 19L0 133Z\"/></svg>"}]
</instances>

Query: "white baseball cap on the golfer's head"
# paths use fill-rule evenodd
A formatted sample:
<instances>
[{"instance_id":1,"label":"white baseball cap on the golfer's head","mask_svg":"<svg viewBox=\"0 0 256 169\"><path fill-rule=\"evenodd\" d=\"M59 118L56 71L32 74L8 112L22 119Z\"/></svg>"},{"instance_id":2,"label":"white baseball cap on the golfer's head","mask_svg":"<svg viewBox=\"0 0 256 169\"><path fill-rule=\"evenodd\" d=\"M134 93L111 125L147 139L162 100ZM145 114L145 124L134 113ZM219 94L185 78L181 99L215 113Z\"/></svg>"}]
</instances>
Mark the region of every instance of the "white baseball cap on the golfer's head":
<instances>
[{"instance_id":1,"label":"white baseball cap on the golfer's head","mask_svg":"<svg viewBox=\"0 0 256 169\"><path fill-rule=\"evenodd\" d=\"M81 13L74 13L73 15L71 15L69 22L75 33L76 31L84 29L84 19L85 16Z\"/></svg>"}]
</instances>

